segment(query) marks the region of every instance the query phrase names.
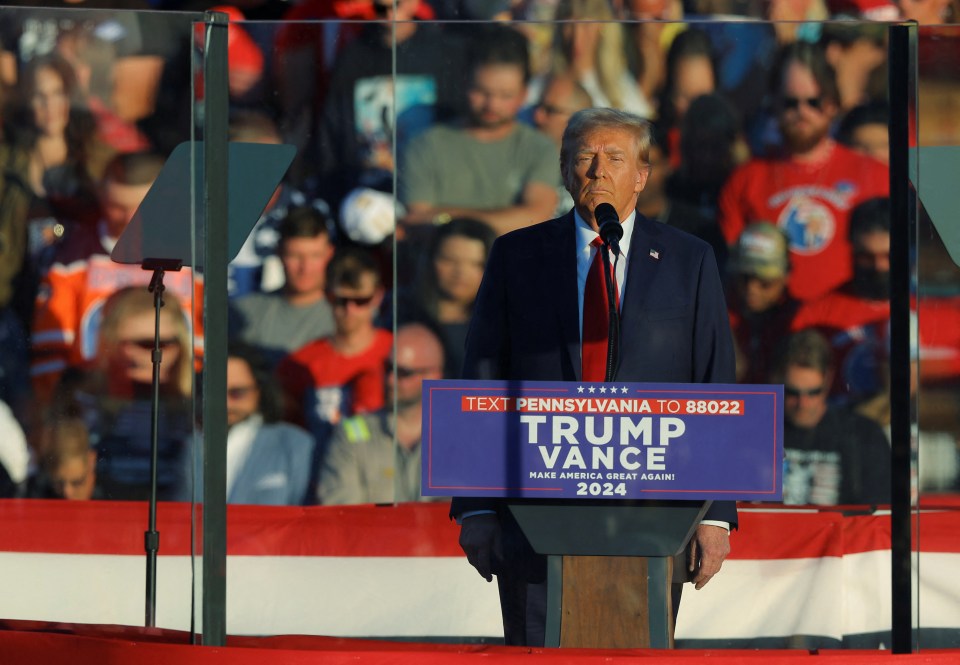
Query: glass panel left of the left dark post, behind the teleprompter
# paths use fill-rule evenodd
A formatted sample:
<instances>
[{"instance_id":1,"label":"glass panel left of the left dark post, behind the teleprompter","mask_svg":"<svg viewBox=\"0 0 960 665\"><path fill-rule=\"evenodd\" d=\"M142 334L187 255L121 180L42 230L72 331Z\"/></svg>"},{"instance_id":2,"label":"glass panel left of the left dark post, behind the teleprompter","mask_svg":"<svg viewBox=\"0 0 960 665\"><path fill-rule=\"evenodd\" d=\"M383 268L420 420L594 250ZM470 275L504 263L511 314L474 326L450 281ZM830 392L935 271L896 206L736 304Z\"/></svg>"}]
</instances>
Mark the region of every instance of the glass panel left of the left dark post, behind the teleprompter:
<instances>
[{"instance_id":1,"label":"glass panel left of the left dark post, behind the teleprompter","mask_svg":"<svg viewBox=\"0 0 960 665\"><path fill-rule=\"evenodd\" d=\"M81 503L61 503L59 510L76 518L75 523L63 525L76 530L74 536L62 535L65 542L72 540L64 551L78 554L77 548L88 548L101 554L104 566L115 573L110 583L103 584L95 576L77 572L76 566L83 565L83 556L68 557L69 563L58 567L60 572L46 571L49 577L41 575L46 581L36 587L41 598L44 586L58 589L56 607L48 608L54 613L52 616L22 613L43 612L43 603L28 610L12 608L5 616L76 623L159 623L183 630L189 630L191 625L193 589L189 582L171 582L183 580L183 571L189 569L189 511L167 504L189 497L183 458L191 449L192 423L196 421L191 376L200 335L195 322L200 321L201 307L193 297L194 282L189 270L167 274L165 287L170 304L161 314L162 348L167 352L166 367L170 368L164 370L161 378L157 464L158 496L163 506L159 552L166 556L152 565L148 555L146 574L128 579L131 571L126 563L130 557L124 558L115 543L104 539L96 519L117 520L113 528L124 534L120 550L124 546L131 551L136 551L137 545L143 548L144 538L149 537L151 530L146 512L130 511L125 503L139 501L147 505L150 494L151 400L149 390L144 390L150 385L147 347L152 339L152 326L146 322L154 320L153 304L146 295L150 273L139 265L113 263L108 252L162 164L159 156L137 153L155 147L158 132L168 138L189 138L178 134L180 128L172 118L168 118L168 126L159 127L155 114L164 101L189 98L189 89L178 86L178 82L189 81L189 70L178 69L178 65L188 61L177 57L182 55L182 44L191 41L191 20L199 16L183 12L4 7L0 17L0 98L4 103L2 134L6 154L3 197L5 215L10 215L6 222L16 224L19 214L8 207L16 174L8 169L12 162L7 162L7 157L23 151L28 161L40 164L37 173L43 174L41 178L21 181L32 200L29 209L23 211L22 220L24 224L29 222L25 232L29 239L29 272L23 273L24 279L17 288L22 289L22 294L36 295L39 291L41 296L35 309L30 302L23 310L34 314L26 327L33 328L34 333L46 330L52 339L66 342L60 349L44 348L44 335L35 334L32 353L27 349L18 351L6 341L0 350L5 363L14 354L20 354L23 360L32 355L36 360L34 369L38 370L36 392L25 403L24 411L17 407L31 445L30 475L19 491L21 496L34 499L60 495L84 498L92 490L94 498L111 500L86 503L89 513ZM44 87L54 80L57 83L52 90ZM64 99L66 120L58 127L64 120L60 115ZM46 154L46 146L63 137L66 151L62 160L54 157L49 162L35 161L36 156ZM12 148L12 152L7 148ZM40 183L39 188L34 181ZM111 206L118 205L119 189L128 185L130 190L126 193L131 196L125 200L125 207L112 210ZM3 261L7 262L8 257ZM68 264L71 274L78 278L76 303L69 302L67 294L72 287L63 282L63 270ZM86 281L79 280L81 274ZM48 307L55 291L57 298L64 299L62 307ZM55 316L48 316L50 312ZM46 328L36 323L44 317ZM136 330L131 328L135 319L144 324ZM54 334L51 324L59 325L62 334ZM71 326L76 326L75 330ZM51 335L46 337L51 339ZM73 340L77 340L75 346L71 344ZM136 370L130 369L132 364L121 369L120 354L128 352L139 354L141 360L146 358L146 363L138 361ZM46 360L53 361L46 366L54 370L49 376L39 371L44 369ZM61 361L69 368L62 374L63 367L57 364ZM51 397L49 390L54 383ZM23 387L29 392L28 381ZM8 435L4 432L3 437ZM84 455L86 446L93 454L89 459ZM77 467L86 469L83 482L79 477L69 482L62 480L69 466L67 461L75 463L80 459L85 460L82 467ZM58 477L60 484L56 482ZM24 515L34 515L36 519L47 510L43 503L26 502L29 510ZM53 501L49 506L52 513L57 512ZM42 527L38 524L36 528ZM136 558L139 564L140 557ZM142 570L139 565L137 568ZM7 572L19 574L14 568ZM159 588L151 603L151 579L156 578Z\"/></svg>"}]
</instances>

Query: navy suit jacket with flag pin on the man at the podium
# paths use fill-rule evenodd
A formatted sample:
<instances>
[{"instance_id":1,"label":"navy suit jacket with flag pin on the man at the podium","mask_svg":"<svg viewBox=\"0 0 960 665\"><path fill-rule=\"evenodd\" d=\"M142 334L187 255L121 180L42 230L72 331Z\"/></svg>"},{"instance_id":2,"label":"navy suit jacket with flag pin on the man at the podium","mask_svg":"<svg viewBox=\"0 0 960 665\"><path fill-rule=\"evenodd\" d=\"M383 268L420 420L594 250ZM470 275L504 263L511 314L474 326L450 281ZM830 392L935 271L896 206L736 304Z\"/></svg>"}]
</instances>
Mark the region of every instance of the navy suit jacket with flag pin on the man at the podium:
<instances>
[{"instance_id":1,"label":"navy suit jacket with flag pin on the man at the podium","mask_svg":"<svg viewBox=\"0 0 960 665\"><path fill-rule=\"evenodd\" d=\"M734 383L733 338L710 246L638 214L628 250L615 379ZM494 243L467 335L465 379L580 380L573 212ZM451 515L503 502L456 498ZM737 524L736 504L706 519Z\"/></svg>"}]
</instances>

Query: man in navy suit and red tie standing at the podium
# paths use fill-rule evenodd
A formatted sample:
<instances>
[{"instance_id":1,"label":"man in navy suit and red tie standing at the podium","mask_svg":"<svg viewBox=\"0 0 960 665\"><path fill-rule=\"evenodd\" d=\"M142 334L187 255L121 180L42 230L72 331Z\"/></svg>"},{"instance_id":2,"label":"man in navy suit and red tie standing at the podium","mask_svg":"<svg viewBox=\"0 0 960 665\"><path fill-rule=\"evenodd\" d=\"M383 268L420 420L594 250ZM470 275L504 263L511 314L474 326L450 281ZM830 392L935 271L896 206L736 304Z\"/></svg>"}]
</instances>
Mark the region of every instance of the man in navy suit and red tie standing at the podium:
<instances>
[{"instance_id":1,"label":"man in navy suit and red tie standing at the podium","mask_svg":"<svg viewBox=\"0 0 960 665\"><path fill-rule=\"evenodd\" d=\"M598 251L591 244L598 237L594 213L609 203L624 231L615 261L621 331L615 380L734 382L712 250L636 212L649 146L648 123L632 114L585 109L571 117L560 170L574 209L494 244L467 337L464 378L591 380L595 370L581 359L583 321L590 319L585 290ZM507 644L543 645L545 558L533 553L502 500L458 498L451 515L462 525L460 545L471 565L488 581L497 575ZM736 522L735 504L715 502L697 527L688 552L697 589L720 570Z\"/></svg>"}]
</instances>

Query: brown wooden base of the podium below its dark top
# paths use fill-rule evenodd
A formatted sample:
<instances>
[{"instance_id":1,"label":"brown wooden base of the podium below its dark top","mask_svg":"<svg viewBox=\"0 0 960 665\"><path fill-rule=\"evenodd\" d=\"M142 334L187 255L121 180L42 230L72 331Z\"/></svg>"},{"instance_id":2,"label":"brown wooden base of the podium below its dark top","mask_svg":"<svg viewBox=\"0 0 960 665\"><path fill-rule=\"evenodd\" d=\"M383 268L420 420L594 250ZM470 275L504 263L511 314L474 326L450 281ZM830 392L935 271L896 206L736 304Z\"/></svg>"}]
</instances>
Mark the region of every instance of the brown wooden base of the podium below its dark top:
<instances>
[{"instance_id":1,"label":"brown wooden base of the podium below its dark top","mask_svg":"<svg viewBox=\"0 0 960 665\"><path fill-rule=\"evenodd\" d=\"M547 646L673 648L672 558L551 556L548 565Z\"/></svg>"}]
</instances>

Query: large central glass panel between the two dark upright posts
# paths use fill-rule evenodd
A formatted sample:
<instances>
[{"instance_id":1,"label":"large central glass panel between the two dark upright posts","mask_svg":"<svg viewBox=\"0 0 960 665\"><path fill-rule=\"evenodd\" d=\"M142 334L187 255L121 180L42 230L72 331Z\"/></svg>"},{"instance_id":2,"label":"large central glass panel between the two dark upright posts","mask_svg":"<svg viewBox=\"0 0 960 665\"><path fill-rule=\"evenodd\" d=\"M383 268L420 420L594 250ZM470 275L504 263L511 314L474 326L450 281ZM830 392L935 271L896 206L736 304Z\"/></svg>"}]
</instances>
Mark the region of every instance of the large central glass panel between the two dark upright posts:
<instances>
[{"instance_id":1,"label":"large central glass panel between the two dark upright posts","mask_svg":"<svg viewBox=\"0 0 960 665\"><path fill-rule=\"evenodd\" d=\"M411 461L416 447L408 444L418 439L419 420L410 418L410 406L423 378L458 376L492 238L570 209L558 168L559 134L570 112L612 104L657 118L658 149L639 209L714 248L739 344L738 378L790 388L790 506L772 512L778 507L742 505L734 554L711 582L725 603L733 603L725 605L725 615L742 621L704 632L699 627L707 622L698 617L715 617L716 608L708 595L687 593L679 645L889 647L890 588L883 582L890 577L889 544L878 535L887 517L876 510L890 496L884 464L890 452L889 284L883 249L868 243L874 240L871 224L879 217L882 227L887 208L885 202L859 205L885 197L889 188L885 167L860 156L885 157L877 144L883 144L889 116L887 26L696 20L572 25L538 22L543 17L536 9L523 17L527 22L494 26L482 20L410 22L404 12L414 6L400 2L384 14L350 17L366 22L323 20L336 17L301 8L289 18L305 22L231 25L234 43L249 47L230 54L231 140L282 141L296 146L297 156L278 198L230 267L230 334L260 347L274 371L253 377L241 371L239 378L228 372L228 388L235 389L228 404L238 409L235 416L228 409L228 417L239 418L245 408L272 408L264 398L282 394L288 402L285 411L278 407L285 414L280 419L314 438L306 453L291 453L313 459L304 462L310 473L300 484L288 476L284 488L291 493L265 499L241 495L239 485L228 491L234 529L228 542L238 555L228 573L228 631L502 639L496 591L459 556L445 506L408 503L416 498L411 487L418 479ZM398 21L375 20L382 16ZM585 17L604 18L554 18ZM469 63L478 45L504 46L518 35L528 49L529 85L510 66L505 76L494 67L486 72L489 80L474 77ZM825 54L807 47L793 53L832 62L840 74L837 89L803 68L790 70L786 91L772 88L780 45L818 40L829 44ZM270 57L257 56L257 44L267 45L260 50ZM596 47L592 66L582 54L594 46L585 51L584 44ZM576 75L551 76L561 67ZM720 94L701 96L711 92ZM922 99L920 107L922 135ZM807 155L812 166L774 160L752 174L741 172L730 185L736 167L784 148L781 129L794 154L820 148ZM501 132L520 138L504 149L494 145ZM820 144L824 132L846 147ZM853 216L869 237L851 244ZM737 244L742 229L757 222L769 224L750 226L751 242ZM324 229L332 231L332 265ZM788 246L789 264L783 254ZM922 285L923 257L912 265L919 265ZM777 294L785 287L802 302L781 300ZM837 289L839 304L803 304ZM922 310L922 288L918 295ZM922 331L922 311L918 318ZM788 343L795 329L811 327L819 337ZM327 342L314 341L324 337ZM780 353L788 348L793 360L781 365ZM240 404L244 378L260 386L259 407ZM270 381L280 389L269 388ZM826 431L816 432L823 409ZM297 431L291 436L302 434ZM242 462L231 472L233 463L228 485L242 484ZM291 512L294 521L283 538L256 547L247 540L254 533L250 525L270 524L274 514L239 504L302 501L368 505L311 508L296 518ZM383 505L374 509L371 503ZM394 534L384 531L387 525L403 525L403 542L411 538L416 545L383 545ZM760 537L770 530L784 534L776 547ZM862 532L871 534L868 552L843 549L846 535ZM279 566L266 562L289 554L288 548L312 556L280 559ZM264 558L239 556L254 552ZM834 565L838 552L844 558ZM371 556L380 558L363 558ZM814 563L791 570L801 559ZM431 588L446 591L380 593L394 579L389 571L398 560L433 580ZM754 583L762 575L776 576L790 591L767 598ZM267 583L254 589L251 579ZM870 583L876 580L882 582ZM825 595L813 597L811 589ZM305 617L292 600L328 596L355 598L356 611L351 606ZM738 603L743 611L731 612ZM264 605L271 607L266 626ZM377 611L360 609L370 607Z\"/></svg>"}]
</instances>

